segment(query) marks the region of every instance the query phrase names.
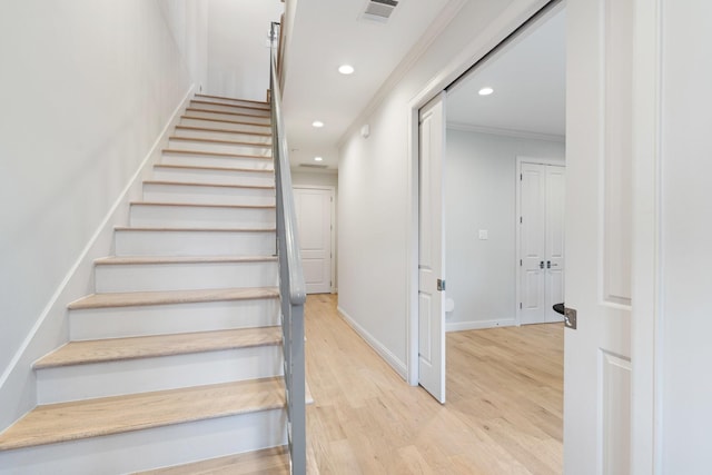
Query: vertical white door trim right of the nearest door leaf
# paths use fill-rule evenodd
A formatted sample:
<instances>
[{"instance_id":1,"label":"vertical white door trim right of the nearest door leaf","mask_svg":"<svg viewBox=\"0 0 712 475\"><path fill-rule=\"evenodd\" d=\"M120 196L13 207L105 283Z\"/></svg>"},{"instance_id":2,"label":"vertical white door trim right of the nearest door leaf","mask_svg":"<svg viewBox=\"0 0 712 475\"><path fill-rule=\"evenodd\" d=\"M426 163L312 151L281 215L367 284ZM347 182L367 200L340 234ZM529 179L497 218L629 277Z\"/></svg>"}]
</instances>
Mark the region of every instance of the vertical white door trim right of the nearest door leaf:
<instances>
[{"instance_id":1,"label":"vertical white door trim right of the nearest door leaf","mask_svg":"<svg viewBox=\"0 0 712 475\"><path fill-rule=\"evenodd\" d=\"M635 1L631 474L663 473L662 1Z\"/></svg>"}]
</instances>

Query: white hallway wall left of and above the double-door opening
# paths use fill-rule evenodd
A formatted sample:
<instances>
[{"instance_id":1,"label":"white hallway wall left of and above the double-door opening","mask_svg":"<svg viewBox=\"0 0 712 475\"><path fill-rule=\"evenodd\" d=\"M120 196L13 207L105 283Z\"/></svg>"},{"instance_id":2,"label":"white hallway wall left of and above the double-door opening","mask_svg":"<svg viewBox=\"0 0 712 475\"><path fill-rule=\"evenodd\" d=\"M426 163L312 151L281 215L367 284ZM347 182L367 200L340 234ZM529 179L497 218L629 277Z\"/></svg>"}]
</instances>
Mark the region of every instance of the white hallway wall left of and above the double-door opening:
<instances>
[{"instance_id":1,"label":"white hallway wall left of and above the double-door opening","mask_svg":"<svg viewBox=\"0 0 712 475\"><path fill-rule=\"evenodd\" d=\"M389 80L339 148L339 309L403 376L413 298L411 103L442 81L444 70L449 80L464 72L462 65L486 53L543 3L465 2L412 68ZM364 123L370 126L367 139L359 133Z\"/></svg>"}]
</instances>

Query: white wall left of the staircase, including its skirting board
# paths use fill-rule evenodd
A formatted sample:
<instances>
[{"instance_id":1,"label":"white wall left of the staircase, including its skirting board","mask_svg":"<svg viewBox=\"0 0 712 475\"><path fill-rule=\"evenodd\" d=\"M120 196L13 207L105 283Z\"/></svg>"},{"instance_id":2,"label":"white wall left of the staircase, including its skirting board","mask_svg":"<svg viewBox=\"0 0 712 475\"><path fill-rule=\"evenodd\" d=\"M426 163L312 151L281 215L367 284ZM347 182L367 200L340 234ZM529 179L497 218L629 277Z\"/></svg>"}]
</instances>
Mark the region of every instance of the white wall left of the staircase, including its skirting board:
<instances>
[{"instance_id":1,"label":"white wall left of the staircase, including its skirting board","mask_svg":"<svg viewBox=\"0 0 712 475\"><path fill-rule=\"evenodd\" d=\"M67 340L67 303L92 290L91 259L190 89L165 7L0 3L0 429L34 404L31 362Z\"/></svg>"}]
</instances>

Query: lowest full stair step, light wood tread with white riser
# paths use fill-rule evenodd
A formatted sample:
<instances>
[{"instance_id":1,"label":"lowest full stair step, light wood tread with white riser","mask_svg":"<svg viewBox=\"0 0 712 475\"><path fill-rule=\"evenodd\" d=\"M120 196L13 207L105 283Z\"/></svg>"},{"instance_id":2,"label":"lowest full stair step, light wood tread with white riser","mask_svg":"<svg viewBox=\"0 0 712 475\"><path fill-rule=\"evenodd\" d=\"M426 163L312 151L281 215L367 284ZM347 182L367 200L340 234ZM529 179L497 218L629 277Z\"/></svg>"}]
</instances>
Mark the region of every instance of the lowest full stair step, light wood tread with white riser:
<instances>
[{"instance_id":1,"label":"lowest full stair step, light wood tread with white riser","mask_svg":"<svg viewBox=\"0 0 712 475\"><path fill-rule=\"evenodd\" d=\"M0 434L0 474L118 474L286 443L283 378L39 406Z\"/></svg>"}]
</instances>

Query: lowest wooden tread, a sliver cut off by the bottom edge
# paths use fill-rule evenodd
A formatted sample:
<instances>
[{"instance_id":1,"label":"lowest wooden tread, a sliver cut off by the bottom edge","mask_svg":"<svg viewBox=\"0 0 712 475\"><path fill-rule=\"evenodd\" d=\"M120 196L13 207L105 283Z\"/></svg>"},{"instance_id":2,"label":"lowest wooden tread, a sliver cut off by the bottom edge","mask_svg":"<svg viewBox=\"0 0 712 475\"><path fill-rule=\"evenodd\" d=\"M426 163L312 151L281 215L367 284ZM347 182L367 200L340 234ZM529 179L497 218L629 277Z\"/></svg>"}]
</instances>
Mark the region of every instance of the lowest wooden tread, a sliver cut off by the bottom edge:
<instances>
[{"instance_id":1,"label":"lowest wooden tread, a sliver cut off by the bottom edge","mask_svg":"<svg viewBox=\"0 0 712 475\"><path fill-rule=\"evenodd\" d=\"M135 475L289 475L287 446L228 455L186 465L139 472Z\"/></svg>"}]
</instances>

